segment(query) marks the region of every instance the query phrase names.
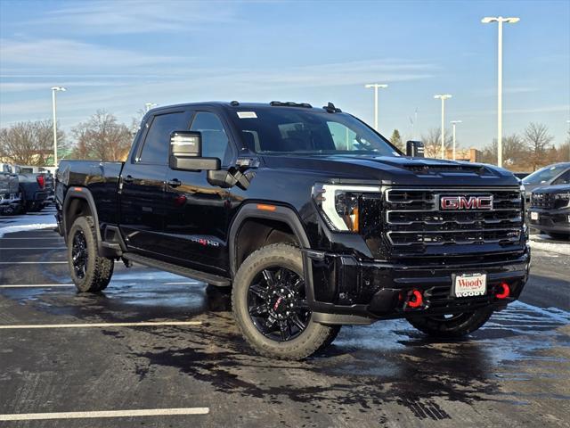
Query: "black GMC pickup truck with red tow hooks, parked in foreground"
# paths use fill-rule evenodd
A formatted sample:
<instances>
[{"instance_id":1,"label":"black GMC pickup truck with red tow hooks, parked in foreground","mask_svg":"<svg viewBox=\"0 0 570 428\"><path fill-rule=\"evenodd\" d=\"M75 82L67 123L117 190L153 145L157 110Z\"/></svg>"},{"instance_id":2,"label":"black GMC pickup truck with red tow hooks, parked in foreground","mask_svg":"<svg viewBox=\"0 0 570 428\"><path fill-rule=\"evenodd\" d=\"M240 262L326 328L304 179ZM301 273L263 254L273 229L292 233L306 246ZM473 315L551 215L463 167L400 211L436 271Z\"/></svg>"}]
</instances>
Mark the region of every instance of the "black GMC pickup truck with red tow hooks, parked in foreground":
<instances>
[{"instance_id":1,"label":"black GMC pickup truck with red tow hooks, parked in foreground","mask_svg":"<svg viewBox=\"0 0 570 428\"><path fill-rule=\"evenodd\" d=\"M274 358L395 317L460 337L528 276L516 177L404 156L331 103L154 109L126 162L61 161L56 203L79 291L118 259L232 286L241 332Z\"/></svg>"}]
</instances>

